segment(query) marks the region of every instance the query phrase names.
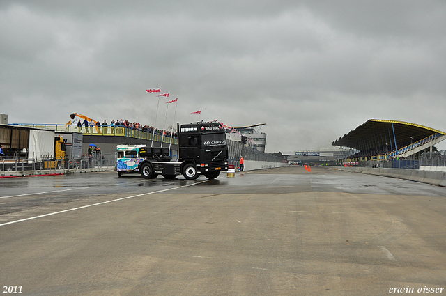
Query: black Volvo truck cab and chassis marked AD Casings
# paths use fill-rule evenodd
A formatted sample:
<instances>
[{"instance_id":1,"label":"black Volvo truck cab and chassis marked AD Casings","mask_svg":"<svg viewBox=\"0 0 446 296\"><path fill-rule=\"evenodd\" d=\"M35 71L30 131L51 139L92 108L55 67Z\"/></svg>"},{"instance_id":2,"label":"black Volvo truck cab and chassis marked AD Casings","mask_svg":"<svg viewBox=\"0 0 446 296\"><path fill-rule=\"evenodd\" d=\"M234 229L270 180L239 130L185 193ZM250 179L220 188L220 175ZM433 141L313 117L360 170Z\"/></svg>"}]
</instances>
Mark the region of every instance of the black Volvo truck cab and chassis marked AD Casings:
<instances>
[{"instance_id":1,"label":"black Volvo truck cab and chassis marked AD Casings","mask_svg":"<svg viewBox=\"0 0 446 296\"><path fill-rule=\"evenodd\" d=\"M190 123L178 128L178 160L172 161L167 148L141 147L144 159L138 171L146 179L162 175L172 179L183 174L187 180L200 175L215 179L228 170L226 134L220 123Z\"/></svg>"}]
</instances>

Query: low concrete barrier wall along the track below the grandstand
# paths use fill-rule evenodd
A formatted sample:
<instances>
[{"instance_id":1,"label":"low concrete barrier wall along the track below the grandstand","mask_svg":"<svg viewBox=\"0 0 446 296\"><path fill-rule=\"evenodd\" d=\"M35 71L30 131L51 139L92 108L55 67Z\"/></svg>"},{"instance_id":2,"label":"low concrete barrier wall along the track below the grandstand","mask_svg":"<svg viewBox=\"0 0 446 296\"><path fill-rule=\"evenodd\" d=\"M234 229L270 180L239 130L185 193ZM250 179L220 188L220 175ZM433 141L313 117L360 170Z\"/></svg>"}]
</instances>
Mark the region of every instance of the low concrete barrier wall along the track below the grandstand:
<instances>
[{"instance_id":1,"label":"low concrete barrier wall along the track below the grandstand","mask_svg":"<svg viewBox=\"0 0 446 296\"><path fill-rule=\"evenodd\" d=\"M337 167L339 171L351 171L368 175L385 176L390 178L406 179L431 185L446 187L446 171L422 171L417 169L385 169L371 167Z\"/></svg>"}]
</instances>

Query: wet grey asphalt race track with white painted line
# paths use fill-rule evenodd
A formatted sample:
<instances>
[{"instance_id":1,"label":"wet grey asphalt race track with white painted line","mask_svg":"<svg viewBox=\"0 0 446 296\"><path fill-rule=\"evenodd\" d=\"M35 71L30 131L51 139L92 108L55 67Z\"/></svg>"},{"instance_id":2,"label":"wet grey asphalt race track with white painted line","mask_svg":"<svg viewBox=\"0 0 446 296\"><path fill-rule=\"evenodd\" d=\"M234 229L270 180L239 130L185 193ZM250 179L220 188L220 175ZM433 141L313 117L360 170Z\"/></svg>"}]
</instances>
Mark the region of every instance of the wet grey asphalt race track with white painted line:
<instances>
[{"instance_id":1,"label":"wet grey asphalt race track with white painted line","mask_svg":"<svg viewBox=\"0 0 446 296\"><path fill-rule=\"evenodd\" d=\"M3 178L0 292L446 295L445 216L444 187L328 168Z\"/></svg>"}]
</instances>

